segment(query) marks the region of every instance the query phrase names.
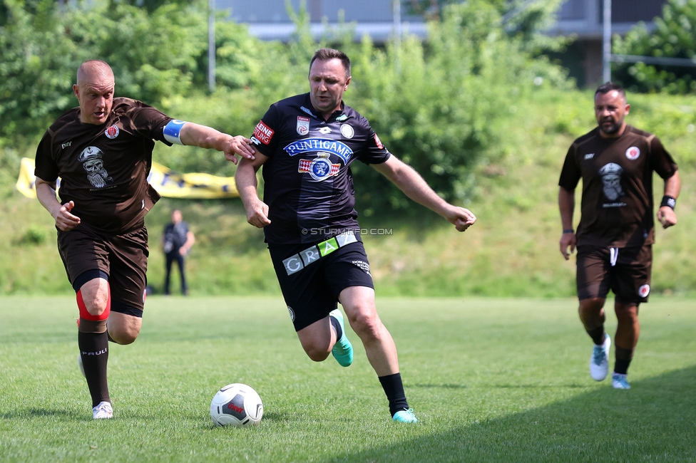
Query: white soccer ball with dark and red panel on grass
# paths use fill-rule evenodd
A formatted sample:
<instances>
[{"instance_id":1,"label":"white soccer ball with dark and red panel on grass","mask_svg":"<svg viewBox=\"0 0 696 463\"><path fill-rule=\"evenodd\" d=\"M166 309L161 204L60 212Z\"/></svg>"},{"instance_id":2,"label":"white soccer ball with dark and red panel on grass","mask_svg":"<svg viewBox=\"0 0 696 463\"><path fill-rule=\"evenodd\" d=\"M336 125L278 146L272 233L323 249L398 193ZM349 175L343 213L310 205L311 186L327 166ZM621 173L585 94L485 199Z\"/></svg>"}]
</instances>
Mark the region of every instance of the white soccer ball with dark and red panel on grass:
<instances>
[{"instance_id":1,"label":"white soccer ball with dark and red panel on grass","mask_svg":"<svg viewBox=\"0 0 696 463\"><path fill-rule=\"evenodd\" d=\"M222 387L210 402L210 417L218 426L255 426L262 416L261 397L245 384Z\"/></svg>"}]
</instances>

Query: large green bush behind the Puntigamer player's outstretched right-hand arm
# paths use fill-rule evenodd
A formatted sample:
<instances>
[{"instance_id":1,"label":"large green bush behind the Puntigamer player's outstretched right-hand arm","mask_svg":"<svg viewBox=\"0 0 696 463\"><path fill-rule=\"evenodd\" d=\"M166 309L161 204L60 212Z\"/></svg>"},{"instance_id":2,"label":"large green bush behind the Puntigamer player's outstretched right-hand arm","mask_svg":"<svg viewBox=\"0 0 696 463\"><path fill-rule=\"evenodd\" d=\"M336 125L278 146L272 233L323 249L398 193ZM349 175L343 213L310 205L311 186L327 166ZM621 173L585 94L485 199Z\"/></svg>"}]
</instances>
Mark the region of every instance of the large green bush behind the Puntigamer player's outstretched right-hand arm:
<instances>
[{"instance_id":1,"label":"large green bush behind the Puntigamer player's outstretched right-hand arm","mask_svg":"<svg viewBox=\"0 0 696 463\"><path fill-rule=\"evenodd\" d=\"M509 108L528 95L535 78L561 86L567 80L565 71L533 58L522 36L508 36L491 2L446 6L442 15L425 42L411 38L384 50L364 43L346 100L391 152L461 204L471 197L476 164L500 155L495 147ZM358 191L368 214L412 209L393 184L357 164L357 179L370 185Z\"/></svg>"}]
</instances>

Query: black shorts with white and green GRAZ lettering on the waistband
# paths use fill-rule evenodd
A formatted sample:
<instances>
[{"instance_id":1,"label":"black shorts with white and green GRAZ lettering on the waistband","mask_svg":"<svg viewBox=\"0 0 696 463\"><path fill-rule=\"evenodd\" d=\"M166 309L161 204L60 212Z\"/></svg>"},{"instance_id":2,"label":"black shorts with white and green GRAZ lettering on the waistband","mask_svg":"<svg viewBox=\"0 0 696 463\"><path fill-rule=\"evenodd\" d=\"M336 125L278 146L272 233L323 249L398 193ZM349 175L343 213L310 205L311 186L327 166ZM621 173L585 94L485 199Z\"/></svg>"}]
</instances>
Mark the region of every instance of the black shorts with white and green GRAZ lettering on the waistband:
<instances>
[{"instance_id":1,"label":"black shorts with white and green GRAZ lettering on the waistband","mask_svg":"<svg viewBox=\"0 0 696 463\"><path fill-rule=\"evenodd\" d=\"M353 239L343 244L340 240L337 236L313 245L268 246L295 331L337 308L338 296L345 288L374 288L362 242Z\"/></svg>"}]
</instances>

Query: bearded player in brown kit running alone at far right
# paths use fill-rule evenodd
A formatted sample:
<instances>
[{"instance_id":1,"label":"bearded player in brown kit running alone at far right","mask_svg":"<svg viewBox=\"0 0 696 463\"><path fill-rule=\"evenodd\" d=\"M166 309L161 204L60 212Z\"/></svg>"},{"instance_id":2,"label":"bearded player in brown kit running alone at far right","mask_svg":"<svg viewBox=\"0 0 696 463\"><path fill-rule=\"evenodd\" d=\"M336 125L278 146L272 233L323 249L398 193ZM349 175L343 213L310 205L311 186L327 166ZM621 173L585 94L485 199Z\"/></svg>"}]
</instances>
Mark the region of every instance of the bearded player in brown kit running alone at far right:
<instances>
[{"instance_id":1,"label":"bearded player in brown kit running alone at far right","mask_svg":"<svg viewBox=\"0 0 696 463\"><path fill-rule=\"evenodd\" d=\"M638 343L638 306L648 302L652 243L652 172L665 181L657 211L663 228L677 223L675 204L681 182L677 165L660 140L625 123L630 105L620 85L605 83L595 92L598 127L573 142L558 184L565 260L578 248L577 286L580 321L595 346L590 376L604 380L609 372L611 340L605 333L604 303L615 295L618 320L612 385L629 389L628 366ZM573 230L575 187L583 179L580 223ZM570 249L570 253L568 252Z\"/></svg>"}]
</instances>

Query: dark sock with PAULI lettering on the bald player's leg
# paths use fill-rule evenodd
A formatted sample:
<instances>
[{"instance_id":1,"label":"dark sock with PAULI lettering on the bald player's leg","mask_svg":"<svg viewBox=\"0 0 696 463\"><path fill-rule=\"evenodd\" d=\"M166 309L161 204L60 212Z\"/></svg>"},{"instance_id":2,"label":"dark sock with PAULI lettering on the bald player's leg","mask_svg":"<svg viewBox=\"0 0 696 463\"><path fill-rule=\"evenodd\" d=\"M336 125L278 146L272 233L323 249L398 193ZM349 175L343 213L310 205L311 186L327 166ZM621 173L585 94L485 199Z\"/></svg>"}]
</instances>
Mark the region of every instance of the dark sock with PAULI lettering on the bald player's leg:
<instances>
[{"instance_id":1,"label":"dark sock with PAULI lettering on the bald player's leg","mask_svg":"<svg viewBox=\"0 0 696 463\"><path fill-rule=\"evenodd\" d=\"M103 333L78 332L77 343L80 347L82 365L89 395L92 397L92 407L99 402L111 402L106 383L106 363L108 361L108 335Z\"/></svg>"}]
</instances>

